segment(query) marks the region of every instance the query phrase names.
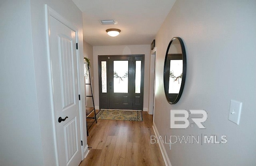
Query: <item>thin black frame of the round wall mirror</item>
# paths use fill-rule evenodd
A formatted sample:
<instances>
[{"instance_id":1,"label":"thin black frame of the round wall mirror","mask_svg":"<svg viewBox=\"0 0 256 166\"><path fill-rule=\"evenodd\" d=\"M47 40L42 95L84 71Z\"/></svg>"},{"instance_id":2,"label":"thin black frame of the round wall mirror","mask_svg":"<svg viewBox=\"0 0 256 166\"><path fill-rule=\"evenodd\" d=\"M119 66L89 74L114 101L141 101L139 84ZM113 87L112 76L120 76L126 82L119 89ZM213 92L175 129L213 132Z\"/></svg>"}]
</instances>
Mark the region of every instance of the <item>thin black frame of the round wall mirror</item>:
<instances>
[{"instance_id":1,"label":"thin black frame of the round wall mirror","mask_svg":"<svg viewBox=\"0 0 256 166\"><path fill-rule=\"evenodd\" d=\"M182 50L182 64L183 64L183 68L182 68L182 81L181 81L181 85L180 85L180 91L178 93L178 96L174 100L174 102L171 102L169 100L169 98L168 98L168 87L167 86L169 86L169 82L166 81L166 80L169 80L169 77L166 78L166 59L167 59L167 56L168 56L168 52L169 52L170 46L171 46L172 41L174 39L178 39L180 41L180 46L181 46L181 50ZM165 55L165 59L164 59L164 93L165 93L165 96L166 96L166 100L170 104L176 104L180 100L180 97L181 97L183 89L184 89L185 80L186 80L186 69L187 69L187 61L186 61L186 51L185 51L184 43L183 43L183 41L182 41L182 39L180 37L173 37L172 40L170 41L168 47L167 47L166 55Z\"/></svg>"}]
</instances>

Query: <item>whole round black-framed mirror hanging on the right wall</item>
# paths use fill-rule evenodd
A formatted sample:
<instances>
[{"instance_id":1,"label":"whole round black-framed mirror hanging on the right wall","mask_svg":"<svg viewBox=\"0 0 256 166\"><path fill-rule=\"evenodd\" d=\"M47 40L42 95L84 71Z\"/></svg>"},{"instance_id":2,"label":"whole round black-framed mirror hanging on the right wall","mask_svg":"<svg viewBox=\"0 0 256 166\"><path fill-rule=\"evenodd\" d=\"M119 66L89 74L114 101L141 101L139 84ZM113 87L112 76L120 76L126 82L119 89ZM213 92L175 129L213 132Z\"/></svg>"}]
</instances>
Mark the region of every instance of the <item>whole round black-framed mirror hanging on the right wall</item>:
<instances>
[{"instance_id":1,"label":"whole round black-framed mirror hanging on the right wall","mask_svg":"<svg viewBox=\"0 0 256 166\"><path fill-rule=\"evenodd\" d=\"M180 100L186 78L186 52L182 39L170 41L164 60L164 92L170 104Z\"/></svg>"}]
</instances>

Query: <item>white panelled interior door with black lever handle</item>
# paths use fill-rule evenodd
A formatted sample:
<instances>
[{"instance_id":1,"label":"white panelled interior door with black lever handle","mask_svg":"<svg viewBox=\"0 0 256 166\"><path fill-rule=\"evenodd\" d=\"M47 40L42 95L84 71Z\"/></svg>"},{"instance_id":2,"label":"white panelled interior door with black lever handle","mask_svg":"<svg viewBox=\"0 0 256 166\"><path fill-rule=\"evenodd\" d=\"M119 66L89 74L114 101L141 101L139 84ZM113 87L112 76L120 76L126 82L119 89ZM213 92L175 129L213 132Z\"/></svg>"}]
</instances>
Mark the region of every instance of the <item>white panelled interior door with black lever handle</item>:
<instances>
[{"instance_id":1,"label":"white panelled interior door with black lever handle","mask_svg":"<svg viewBox=\"0 0 256 166\"><path fill-rule=\"evenodd\" d=\"M60 166L81 162L76 32L50 16L55 124ZM58 121L62 118L65 121Z\"/></svg>"}]
</instances>

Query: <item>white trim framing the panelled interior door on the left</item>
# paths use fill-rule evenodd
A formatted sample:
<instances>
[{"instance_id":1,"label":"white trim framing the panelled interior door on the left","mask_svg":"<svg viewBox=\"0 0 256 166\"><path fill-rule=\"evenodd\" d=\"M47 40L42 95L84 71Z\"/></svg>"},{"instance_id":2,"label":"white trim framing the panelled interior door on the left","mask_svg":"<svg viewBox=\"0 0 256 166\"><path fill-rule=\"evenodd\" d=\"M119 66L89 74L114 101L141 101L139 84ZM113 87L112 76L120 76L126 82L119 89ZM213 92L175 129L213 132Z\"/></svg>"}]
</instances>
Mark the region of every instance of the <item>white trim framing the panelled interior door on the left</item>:
<instances>
[{"instance_id":1,"label":"white trim framing the panelled interior door on the left","mask_svg":"<svg viewBox=\"0 0 256 166\"><path fill-rule=\"evenodd\" d=\"M51 54L51 46L50 46L50 16L56 18L58 21L72 29L76 33L76 43L79 44L78 39L78 28L76 28L72 23L68 20L63 18L60 14L50 8L47 4L45 4L45 18L46 18L46 45L47 45L47 55L48 55L48 69L49 69L49 83L50 83L50 100L51 100L51 111L52 111L52 126L53 126L53 135L54 135L54 148L55 148L55 158L56 158L56 166L60 165L59 156L58 156L58 141L57 141L57 128L56 128L56 116L55 116L55 107L54 107L54 90L53 90L53 78L52 78L52 54ZM81 92L81 78L80 78L80 54L79 54L79 47L76 50L77 55L77 74L78 74L78 94L82 94ZM83 140L83 120L82 120L82 100L79 100L79 118L80 118L80 130L78 131L81 133L81 140ZM85 145L83 145L85 146ZM82 156L81 160L84 157L84 149L81 146Z\"/></svg>"}]
</instances>

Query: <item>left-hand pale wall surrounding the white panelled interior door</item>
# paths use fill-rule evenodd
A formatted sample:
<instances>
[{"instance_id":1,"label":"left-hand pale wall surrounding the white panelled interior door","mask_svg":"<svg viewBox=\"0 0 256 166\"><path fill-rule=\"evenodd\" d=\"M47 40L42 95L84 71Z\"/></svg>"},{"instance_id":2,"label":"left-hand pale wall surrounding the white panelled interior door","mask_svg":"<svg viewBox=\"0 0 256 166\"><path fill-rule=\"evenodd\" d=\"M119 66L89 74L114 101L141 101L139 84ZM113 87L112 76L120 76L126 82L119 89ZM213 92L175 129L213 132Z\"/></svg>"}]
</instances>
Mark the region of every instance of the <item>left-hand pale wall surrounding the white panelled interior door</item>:
<instances>
[{"instance_id":1,"label":"left-hand pale wall surrounding the white panelled interior door","mask_svg":"<svg viewBox=\"0 0 256 166\"><path fill-rule=\"evenodd\" d=\"M4 166L56 165L44 4L79 29L83 54L82 12L71 0L0 2L0 163ZM82 56L80 60L82 66ZM83 68L80 74L83 78ZM83 93L81 98L85 99Z\"/></svg>"}]
</instances>

